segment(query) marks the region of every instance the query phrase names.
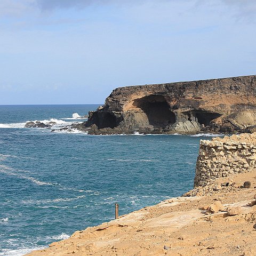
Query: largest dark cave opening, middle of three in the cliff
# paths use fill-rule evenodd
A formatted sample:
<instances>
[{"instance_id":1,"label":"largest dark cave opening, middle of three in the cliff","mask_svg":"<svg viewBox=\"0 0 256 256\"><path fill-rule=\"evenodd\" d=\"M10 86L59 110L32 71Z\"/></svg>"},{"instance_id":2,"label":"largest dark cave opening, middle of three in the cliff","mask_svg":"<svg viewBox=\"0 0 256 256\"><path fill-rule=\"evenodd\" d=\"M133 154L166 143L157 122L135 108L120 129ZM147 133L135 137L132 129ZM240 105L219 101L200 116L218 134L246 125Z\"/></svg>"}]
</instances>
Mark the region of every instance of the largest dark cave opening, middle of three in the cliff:
<instances>
[{"instance_id":1,"label":"largest dark cave opening, middle of three in the cliff","mask_svg":"<svg viewBox=\"0 0 256 256\"><path fill-rule=\"evenodd\" d=\"M149 124L154 127L165 128L176 122L176 116L163 95L154 94L136 99L133 106L142 109L148 117Z\"/></svg>"}]
</instances>

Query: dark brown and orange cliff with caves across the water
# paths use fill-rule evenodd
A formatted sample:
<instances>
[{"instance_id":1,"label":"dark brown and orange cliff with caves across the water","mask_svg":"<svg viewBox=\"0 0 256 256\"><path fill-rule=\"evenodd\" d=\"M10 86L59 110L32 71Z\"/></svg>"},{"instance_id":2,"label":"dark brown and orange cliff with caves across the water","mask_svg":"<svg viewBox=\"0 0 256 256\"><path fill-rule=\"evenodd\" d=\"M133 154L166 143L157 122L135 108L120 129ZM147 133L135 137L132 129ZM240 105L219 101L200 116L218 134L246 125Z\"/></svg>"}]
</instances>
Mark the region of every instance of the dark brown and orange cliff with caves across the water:
<instances>
[{"instance_id":1,"label":"dark brown and orange cliff with caves across the water","mask_svg":"<svg viewBox=\"0 0 256 256\"><path fill-rule=\"evenodd\" d=\"M252 132L255 95L255 75L121 87L78 129L91 134Z\"/></svg>"}]
</instances>

